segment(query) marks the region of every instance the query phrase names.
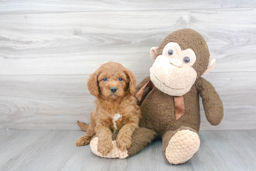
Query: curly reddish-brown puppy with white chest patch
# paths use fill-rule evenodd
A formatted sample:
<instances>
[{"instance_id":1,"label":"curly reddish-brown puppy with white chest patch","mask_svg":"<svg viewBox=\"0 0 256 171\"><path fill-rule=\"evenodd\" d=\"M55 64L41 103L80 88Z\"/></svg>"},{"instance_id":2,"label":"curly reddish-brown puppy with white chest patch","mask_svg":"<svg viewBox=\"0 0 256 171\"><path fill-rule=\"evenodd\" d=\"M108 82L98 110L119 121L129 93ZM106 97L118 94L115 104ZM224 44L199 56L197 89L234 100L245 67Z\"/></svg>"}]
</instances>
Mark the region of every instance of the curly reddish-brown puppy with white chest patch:
<instances>
[{"instance_id":1,"label":"curly reddish-brown puppy with white chest patch","mask_svg":"<svg viewBox=\"0 0 256 171\"><path fill-rule=\"evenodd\" d=\"M108 62L88 79L90 93L97 97L96 110L91 113L90 125L78 121L86 134L76 141L76 146L87 145L98 137L98 151L104 156L112 149L112 132L118 132L117 147L126 150L131 146L131 136L139 126L141 110L133 97L136 79L120 63Z\"/></svg>"}]
</instances>

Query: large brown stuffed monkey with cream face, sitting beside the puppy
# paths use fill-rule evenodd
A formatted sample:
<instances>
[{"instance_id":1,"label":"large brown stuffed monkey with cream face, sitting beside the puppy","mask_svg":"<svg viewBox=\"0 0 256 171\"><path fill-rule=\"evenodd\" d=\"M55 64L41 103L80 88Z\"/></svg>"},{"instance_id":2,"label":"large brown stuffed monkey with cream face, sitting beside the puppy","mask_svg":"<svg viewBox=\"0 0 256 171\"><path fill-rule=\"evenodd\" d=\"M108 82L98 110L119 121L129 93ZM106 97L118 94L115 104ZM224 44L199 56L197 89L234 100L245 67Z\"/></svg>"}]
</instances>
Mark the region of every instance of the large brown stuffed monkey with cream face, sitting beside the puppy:
<instances>
[{"instance_id":1,"label":"large brown stuffed monkey with cream face, sitting beside the puppy","mask_svg":"<svg viewBox=\"0 0 256 171\"><path fill-rule=\"evenodd\" d=\"M204 38L194 30L182 29L169 34L150 50L154 61L150 76L136 89L137 104L142 111L139 128L132 135L126 151L116 146L102 156L97 151L97 137L92 138L92 151L101 157L126 158L141 151L155 138L162 139L163 152L171 164L188 161L200 146L199 95L207 120L218 125L223 118L222 101L212 84L201 77L214 67Z\"/></svg>"}]
</instances>

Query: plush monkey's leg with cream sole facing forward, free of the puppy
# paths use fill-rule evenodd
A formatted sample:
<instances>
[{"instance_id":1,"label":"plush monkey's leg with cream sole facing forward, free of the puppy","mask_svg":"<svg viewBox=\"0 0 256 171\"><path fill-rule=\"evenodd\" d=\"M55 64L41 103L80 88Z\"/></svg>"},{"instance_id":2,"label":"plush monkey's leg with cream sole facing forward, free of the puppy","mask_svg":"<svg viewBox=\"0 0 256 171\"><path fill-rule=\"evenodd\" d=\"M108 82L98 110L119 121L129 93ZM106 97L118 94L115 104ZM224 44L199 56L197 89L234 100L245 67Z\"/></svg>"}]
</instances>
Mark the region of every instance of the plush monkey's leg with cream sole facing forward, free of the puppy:
<instances>
[{"instance_id":1,"label":"plush monkey's leg with cream sole facing forward, free of the puppy","mask_svg":"<svg viewBox=\"0 0 256 171\"><path fill-rule=\"evenodd\" d=\"M171 164L181 164L195 155L200 146L199 135L190 127L168 131L162 137L166 160Z\"/></svg>"}]
</instances>

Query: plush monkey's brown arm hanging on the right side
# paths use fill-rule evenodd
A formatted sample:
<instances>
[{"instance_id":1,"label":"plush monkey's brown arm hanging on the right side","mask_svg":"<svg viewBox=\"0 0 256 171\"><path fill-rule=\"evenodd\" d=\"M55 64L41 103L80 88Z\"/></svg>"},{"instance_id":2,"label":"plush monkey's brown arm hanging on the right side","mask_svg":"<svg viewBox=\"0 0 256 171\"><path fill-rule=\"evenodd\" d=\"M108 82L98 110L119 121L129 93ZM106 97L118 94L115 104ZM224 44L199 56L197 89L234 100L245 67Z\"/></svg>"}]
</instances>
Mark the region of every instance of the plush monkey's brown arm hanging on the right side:
<instances>
[{"instance_id":1,"label":"plush monkey's brown arm hanging on the right side","mask_svg":"<svg viewBox=\"0 0 256 171\"><path fill-rule=\"evenodd\" d=\"M219 125L223 118L223 104L212 84L200 77L195 82L196 88L202 97L205 116L211 125Z\"/></svg>"}]
</instances>

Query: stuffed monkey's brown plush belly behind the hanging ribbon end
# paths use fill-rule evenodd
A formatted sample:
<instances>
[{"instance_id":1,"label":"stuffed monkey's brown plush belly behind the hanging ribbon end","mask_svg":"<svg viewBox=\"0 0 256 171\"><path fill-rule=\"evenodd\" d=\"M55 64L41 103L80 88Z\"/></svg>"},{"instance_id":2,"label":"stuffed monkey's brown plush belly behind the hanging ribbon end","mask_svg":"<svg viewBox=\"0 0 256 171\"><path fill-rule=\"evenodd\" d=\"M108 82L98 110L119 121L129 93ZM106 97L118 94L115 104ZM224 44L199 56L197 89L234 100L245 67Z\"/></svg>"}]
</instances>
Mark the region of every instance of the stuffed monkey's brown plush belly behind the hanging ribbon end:
<instances>
[{"instance_id":1,"label":"stuffed monkey's brown plush belly behind the hanging ribbon end","mask_svg":"<svg viewBox=\"0 0 256 171\"><path fill-rule=\"evenodd\" d=\"M200 127L199 96L193 90L192 88L183 95L185 114L176 120L173 96L154 88L141 104L140 127L153 129L159 134L174 131L182 126L193 128L198 132Z\"/></svg>"}]
</instances>

